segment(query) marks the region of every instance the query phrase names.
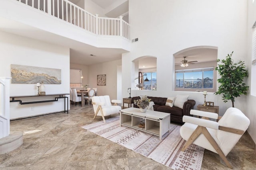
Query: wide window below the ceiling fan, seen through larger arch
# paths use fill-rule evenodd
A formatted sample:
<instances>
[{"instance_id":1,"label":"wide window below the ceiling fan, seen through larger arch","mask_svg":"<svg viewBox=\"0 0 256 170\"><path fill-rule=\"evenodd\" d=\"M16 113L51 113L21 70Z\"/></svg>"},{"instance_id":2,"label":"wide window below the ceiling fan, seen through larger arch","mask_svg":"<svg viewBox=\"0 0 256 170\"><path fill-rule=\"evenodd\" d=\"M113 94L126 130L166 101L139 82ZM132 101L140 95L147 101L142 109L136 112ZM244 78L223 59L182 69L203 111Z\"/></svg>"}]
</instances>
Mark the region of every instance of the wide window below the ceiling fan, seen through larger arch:
<instances>
[{"instance_id":1,"label":"wide window below the ceiling fan, seen through larger arch","mask_svg":"<svg viewBox=\"0 0 256 170\"><path fill-rule=\"evenodd\" d=\"M214 68L176 70L175 88L212 89Z\"/></svg>"}]
</instances>

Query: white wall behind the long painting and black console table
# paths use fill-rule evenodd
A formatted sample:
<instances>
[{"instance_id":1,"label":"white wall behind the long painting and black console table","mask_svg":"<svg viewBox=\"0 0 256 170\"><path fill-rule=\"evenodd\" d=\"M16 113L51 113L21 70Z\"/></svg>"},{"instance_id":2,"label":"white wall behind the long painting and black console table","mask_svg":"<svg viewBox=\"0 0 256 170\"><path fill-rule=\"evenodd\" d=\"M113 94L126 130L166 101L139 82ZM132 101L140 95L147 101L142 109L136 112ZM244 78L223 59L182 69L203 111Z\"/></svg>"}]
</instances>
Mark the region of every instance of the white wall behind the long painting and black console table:
<instances>
[{"instance_id":1,"label":"white wall behind the long painting and black console table","mask_svg":"<svg viewBox=\"0 0 256 170\"><path fill-rule=\"evenodd\" d=\"M46 94L69 94L69 49L0 31L0 77L11 77L10 64L61 69L61 84L45 84ZM10 84L10 96L36 95L36 84ZM69 95L67 95L69 97ZM22 98L23 101L48 97ZM10 103L10 119L64 110L59 102L20 105ZM69 102L68 102L69 104ZM67 106L66 106L67 108ZM66 114L66 113L63 113Z\"/></svg>"}]
</instances>

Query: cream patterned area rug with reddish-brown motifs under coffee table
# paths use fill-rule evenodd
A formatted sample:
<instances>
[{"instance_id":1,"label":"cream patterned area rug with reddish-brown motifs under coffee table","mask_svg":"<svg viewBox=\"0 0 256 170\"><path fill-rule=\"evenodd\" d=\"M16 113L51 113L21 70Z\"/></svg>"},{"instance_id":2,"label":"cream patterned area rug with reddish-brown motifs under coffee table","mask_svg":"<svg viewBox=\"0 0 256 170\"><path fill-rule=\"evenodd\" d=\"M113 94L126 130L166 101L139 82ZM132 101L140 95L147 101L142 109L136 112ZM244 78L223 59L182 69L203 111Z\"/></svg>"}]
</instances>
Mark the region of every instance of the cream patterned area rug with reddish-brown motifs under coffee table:
<instances>
[{"instance_id":1,"label":"cream patterned area rug with reddish-brown motifs under coffee table","mask_svg":"<svg viewBox=\"0 0 256 170\"><path fill-rule=\"evenodd\" d=\"M162 141L158 136L120 127L119 116L106 119L106 123L100 121L82 128L175 170L200 170L202 166L202 147L192 144L185 152L180 151L186 141L180 136L178 125L171 124L170 133L164 134Z\"/></svg>"}]
</instances>

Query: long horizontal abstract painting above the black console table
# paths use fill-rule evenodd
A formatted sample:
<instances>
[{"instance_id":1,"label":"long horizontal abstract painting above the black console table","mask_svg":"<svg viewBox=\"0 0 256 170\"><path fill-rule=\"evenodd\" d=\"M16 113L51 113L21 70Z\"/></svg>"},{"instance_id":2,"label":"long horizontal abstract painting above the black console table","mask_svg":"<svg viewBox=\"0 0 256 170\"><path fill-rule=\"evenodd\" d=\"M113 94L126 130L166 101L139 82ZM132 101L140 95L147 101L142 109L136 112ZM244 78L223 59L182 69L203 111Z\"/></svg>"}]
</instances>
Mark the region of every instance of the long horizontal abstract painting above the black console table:
<instances>
[{"instance_id":1,"label":"long horizontal abstract painting above the black console table","mask_svg":"<svg viewBox=\"0 0 256 170\"><path fill-rule=\"evenodd\" d=\"M12 83L61 84L61 69L11 64Z\"/></svg>"}]
</instances>

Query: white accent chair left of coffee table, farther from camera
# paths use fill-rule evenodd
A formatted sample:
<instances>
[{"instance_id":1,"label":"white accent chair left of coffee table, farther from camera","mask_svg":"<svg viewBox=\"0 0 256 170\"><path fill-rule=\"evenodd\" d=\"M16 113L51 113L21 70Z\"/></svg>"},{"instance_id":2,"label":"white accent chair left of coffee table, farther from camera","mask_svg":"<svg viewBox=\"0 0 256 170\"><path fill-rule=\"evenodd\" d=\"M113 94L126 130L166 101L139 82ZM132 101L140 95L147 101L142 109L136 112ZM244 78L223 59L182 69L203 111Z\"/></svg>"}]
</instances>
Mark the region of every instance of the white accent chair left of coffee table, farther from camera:
<instances>
[{"instance_id":1,"label":"white accent chair left of coffee table, farther from camera","mask_svg":"<svg viewBox=\"0 0 256 170\"><path fill-rule=\"evenodd\" d=\"M112 106L114 103L114 106ZM112 115L119 113L121 110L121 106L118 106L117 103L121 103L121 100L112 100L110 102L109 96L94 96L92 97L92 104L94 109L94 118L96 116L102 116L104 123L106 123L104 116Z\"/></svg>"}]
</instances>

